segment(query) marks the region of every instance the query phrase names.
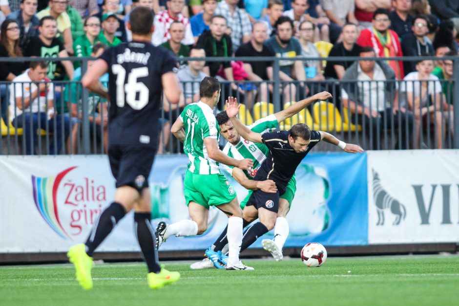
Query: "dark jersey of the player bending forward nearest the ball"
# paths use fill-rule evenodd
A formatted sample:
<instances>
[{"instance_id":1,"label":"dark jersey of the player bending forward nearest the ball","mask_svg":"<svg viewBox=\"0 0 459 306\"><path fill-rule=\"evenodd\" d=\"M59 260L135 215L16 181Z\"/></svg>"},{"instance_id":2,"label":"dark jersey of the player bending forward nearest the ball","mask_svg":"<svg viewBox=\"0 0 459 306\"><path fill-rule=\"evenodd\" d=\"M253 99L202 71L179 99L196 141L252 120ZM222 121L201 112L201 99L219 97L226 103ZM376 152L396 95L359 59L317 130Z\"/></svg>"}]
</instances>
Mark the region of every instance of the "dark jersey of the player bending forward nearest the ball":
<instances>
[{"instance_id":1,"label":"dark jersey of the player bending forward nearest the ball","mask_svg":"<svg viewBox=\"0 0 459 306\"><path fill-rule=\"evenodd\" d=\"M320 141L320 133L311 131L311 142L306 151L296 153L289 144L289 131L268 132L261 135L263 143L270 149L255 175L255 180L272 179L279 193L285 193L288 182L296 168L311 149Z\"/></svg>"}]
</instances>

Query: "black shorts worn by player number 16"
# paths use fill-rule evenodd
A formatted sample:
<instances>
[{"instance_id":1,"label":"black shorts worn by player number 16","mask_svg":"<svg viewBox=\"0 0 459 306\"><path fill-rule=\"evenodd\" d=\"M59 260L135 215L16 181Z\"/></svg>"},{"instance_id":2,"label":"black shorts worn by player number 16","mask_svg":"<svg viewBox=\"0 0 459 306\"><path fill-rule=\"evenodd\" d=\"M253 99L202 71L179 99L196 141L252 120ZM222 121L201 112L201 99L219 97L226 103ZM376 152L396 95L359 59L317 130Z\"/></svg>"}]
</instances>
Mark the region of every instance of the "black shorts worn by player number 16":
<instances>
[{"instance_id":1,"label":"black shorts worn by player number 16","mask_svg":"<svg viewBox=\"0 0 459 306\"><path fill-rule=\"evenodd\" d=\"M116 188L131 186L142 193L142 189L148 187L156 151L146 146L110 145L108 160L116 179Z\"/></svg>"}]
</instances>

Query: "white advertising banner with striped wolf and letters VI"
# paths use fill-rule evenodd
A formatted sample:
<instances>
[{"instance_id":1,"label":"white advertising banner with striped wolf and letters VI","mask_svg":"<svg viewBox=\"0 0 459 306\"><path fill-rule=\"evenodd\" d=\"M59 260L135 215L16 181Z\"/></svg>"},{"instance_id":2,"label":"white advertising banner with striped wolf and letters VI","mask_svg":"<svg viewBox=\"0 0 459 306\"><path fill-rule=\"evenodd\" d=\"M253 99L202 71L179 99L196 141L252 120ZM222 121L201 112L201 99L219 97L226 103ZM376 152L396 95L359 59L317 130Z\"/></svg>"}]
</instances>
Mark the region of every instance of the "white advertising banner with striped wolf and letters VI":
<instances>
[{"instance_id":1,"label":"white advertising banner with striped wolf and letters VI","mask_svg":"<svg viewBox=\"0 0 459 306\"><path fill-rule=\"evenodd\" d=\"M458 153L367 152L370 244L459 241Z\"/></svg>"}]
</instances>

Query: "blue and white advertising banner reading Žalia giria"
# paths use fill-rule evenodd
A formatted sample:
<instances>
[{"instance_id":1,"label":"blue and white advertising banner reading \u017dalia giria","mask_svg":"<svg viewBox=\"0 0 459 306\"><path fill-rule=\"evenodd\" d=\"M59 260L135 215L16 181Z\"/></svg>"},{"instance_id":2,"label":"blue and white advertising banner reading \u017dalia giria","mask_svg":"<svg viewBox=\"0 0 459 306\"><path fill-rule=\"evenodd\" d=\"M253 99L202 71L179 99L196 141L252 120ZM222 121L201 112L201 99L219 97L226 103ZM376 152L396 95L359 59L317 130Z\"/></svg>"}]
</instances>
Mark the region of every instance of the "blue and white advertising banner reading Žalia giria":
<instances>
[{"instance_id":1,"label":"blue and white advertising banner reading \u017dalia giria","mask_svg":"<svg viewBox=\"0 0 459 306\"><path fill-rule=\"evenodd\" d=\"M152 223L188 219L183 195L185 155L156 157L149 185ZM103 155L0 156L2 195L0 252L64 252L86 238L115 193ZM287 216L286 247L318 241L325 245L367 244L366 155L316 153L296 172L297 192ZM248 191L229 178L240 201ZM209 227L198 237L171 237L161 250L206 249L227 225L209 210ZM266 235L272 238L272 233ZM253 247L261 247L261 239ZM132 212L122 219L98 251L138 251Z\"/></svg>"}]
</instances>

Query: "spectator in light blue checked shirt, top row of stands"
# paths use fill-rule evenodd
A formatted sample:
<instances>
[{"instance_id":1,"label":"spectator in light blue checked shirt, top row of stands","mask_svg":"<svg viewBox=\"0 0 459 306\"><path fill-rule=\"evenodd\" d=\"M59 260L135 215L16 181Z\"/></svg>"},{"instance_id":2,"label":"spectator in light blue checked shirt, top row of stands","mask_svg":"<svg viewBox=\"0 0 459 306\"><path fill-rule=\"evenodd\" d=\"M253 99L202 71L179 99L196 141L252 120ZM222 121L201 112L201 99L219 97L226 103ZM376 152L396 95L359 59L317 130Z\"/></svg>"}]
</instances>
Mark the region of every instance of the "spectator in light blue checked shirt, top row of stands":
<instances>
[{"instance_id":1,"label":"spectator in light blue checked shirt, top row of stands","mask_svg":"<svg viewBox=\"0 0 459 306\"><path fill-rule=\"evenodd\" d=\"M231 29L233 47L231 53L235 52L241 44L249 42L252 32L249 14L237 6L239 1L242 0L222 0L215 10L215 15L225 17L227 26Z\"/></svg>"}]
</instances>

